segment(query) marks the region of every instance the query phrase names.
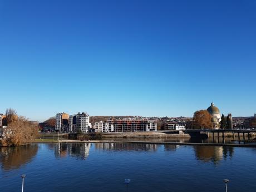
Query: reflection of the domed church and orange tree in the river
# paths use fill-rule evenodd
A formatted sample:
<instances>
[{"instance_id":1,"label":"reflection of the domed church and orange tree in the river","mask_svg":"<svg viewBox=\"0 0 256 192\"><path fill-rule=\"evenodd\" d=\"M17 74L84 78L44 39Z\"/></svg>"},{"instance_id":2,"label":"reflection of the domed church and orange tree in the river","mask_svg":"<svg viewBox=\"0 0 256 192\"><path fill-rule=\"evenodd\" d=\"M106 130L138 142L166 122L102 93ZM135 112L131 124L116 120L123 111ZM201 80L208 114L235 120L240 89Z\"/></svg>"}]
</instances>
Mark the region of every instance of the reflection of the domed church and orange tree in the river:
<instances>
[{"instance_id":1,"label":"reflection of the domed church and orange tree in the river","mask_svg":"<svg viewBox=\"0 0 256 192\"><path fill-rule=\"evenodd\" d=\"M220 160L227 159L228 155L232 158L234 154L233 147L230 146L193 146L195 156L198 160L209 162L213 161L214 164L218 164Z\"/></svg>"}]
</instances>

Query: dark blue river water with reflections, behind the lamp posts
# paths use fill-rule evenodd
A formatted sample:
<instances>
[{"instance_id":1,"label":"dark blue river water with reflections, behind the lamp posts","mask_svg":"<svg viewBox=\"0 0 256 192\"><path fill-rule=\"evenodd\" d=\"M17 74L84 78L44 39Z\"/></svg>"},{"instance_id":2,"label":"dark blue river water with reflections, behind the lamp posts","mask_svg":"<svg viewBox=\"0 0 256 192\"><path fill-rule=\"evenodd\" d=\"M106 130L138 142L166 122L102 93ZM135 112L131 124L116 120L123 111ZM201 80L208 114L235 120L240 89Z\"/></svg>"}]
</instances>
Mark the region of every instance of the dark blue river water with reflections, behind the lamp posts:
<instances>
[{"instance_id":1,"label":"dark blue river water with reflections, behind the lamp posts","mask_svg":"<svg viewBox=\"0 0 256 192\"><path fill-rule=\"evenodd\" d=\"M128 143L0 148L0 191L255 191L256 149Z\"/></svg>"}]
</instances>

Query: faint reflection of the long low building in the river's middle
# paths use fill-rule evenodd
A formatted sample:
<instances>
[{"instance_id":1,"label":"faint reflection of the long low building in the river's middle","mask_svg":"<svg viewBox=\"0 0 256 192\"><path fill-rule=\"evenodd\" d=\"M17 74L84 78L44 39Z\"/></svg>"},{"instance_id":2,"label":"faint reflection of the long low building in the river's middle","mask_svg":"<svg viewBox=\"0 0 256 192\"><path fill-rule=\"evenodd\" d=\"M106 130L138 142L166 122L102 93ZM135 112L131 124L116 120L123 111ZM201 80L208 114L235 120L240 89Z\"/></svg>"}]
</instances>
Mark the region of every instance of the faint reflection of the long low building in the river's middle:
<instances>
[{"instance_id":1,"label":"faint reflection of the long low building in the river's middle","mask_svg":"<svg viewBox=\"0 0 256 192\"><path fill-rule=\"evenodd\" d=\"M156 144L131 144L131 143L96 143L95 149L103 151L157 151Z\"/></svg>"}]
</instances>

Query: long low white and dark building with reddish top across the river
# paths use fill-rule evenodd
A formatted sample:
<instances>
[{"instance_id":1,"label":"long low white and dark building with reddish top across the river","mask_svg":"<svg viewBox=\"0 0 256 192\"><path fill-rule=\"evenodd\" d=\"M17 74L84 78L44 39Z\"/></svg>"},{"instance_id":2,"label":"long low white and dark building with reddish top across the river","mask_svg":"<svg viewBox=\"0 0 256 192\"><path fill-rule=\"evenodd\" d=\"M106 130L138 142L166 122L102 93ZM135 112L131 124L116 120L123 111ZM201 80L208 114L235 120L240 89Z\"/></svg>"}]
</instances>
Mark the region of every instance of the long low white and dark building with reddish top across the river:
<instances>
[{"instance_id":1,"label":"long low white and dark building with reddish top across the river","mask_svg":"<svg viewBox=\"0 0 256 192\"><path fill-rule=\"evenodd\" d=\"M156 131L155 120L108 120L96 122L96 132L142 132Z\"/></svg>"}]
</instances>

